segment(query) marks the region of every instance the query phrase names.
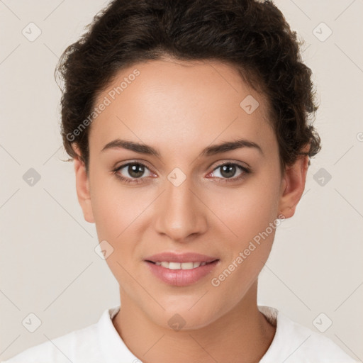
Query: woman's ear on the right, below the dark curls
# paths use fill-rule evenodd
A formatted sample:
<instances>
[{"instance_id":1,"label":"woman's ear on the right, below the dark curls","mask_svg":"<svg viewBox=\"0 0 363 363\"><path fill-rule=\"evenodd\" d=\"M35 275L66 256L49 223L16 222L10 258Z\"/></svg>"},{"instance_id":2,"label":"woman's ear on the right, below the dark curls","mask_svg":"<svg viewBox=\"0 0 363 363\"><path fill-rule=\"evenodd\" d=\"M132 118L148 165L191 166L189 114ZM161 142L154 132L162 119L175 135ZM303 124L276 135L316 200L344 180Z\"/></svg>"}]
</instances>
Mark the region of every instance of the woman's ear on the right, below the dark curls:
<instances>
[{"instance_id":1,"label":"woman's ear on the right, below the dark curls","mask_svg":"<svg viewBox=\"0 0 363 363\"><path fill-rule=\"evenodd\" d=\"M303 149L308 152L310 145ZM299 155L294 164L286 167L281 183L281 197L279 211L285 218L294 216L296 206L305 189L306 174L308 172L308 155Z\"/></svg>"}]
</instances>

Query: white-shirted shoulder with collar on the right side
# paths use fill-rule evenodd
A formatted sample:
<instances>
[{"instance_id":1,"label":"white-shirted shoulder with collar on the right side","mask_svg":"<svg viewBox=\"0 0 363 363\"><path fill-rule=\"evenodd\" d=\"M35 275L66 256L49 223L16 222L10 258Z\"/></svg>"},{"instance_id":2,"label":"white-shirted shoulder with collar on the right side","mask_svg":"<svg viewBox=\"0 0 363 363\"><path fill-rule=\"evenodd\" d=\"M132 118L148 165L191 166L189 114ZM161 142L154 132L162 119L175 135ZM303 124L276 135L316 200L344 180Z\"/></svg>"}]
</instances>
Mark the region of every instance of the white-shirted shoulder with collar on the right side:
<instances>
[{"instance_id":1,"label":"white-shirted shoulder with collar on the right side","mask_svg":"<svg viewBox=\"0 0 363 363\"><path fill-rule=\"evenodd\" d=\"M304 363L357 363L342 348L321 333L300 325L277 309L259 307L268 320L275 318L277 330L260 363L284 361Z\"/></svg>"}]
</instances>

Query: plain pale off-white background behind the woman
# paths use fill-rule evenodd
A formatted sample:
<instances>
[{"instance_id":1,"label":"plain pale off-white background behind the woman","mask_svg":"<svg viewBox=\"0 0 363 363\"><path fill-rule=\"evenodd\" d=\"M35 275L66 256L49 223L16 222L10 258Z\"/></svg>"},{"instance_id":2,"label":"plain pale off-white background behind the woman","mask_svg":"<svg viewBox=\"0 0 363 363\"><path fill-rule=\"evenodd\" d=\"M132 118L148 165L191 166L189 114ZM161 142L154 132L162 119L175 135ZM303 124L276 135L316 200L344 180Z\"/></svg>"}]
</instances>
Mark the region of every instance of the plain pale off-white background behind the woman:
<instances>
[{"instance_id":1,"label":"plain pale off-white background behind the woman","mask_svg":"<svg viewBox=\"0 0 363 363\"><path fill-rule=\"evenodd\" d=\"M119 303L116 279L94 252L96 229L77 201L73 164L61 161L67 155L53 78L62 51L106 4L0 1L0 359L96 323ZM322 334L362 360L363 1L275 4L306 40L323 150L295 216L277 230L259 303L316 331L332 320ZM41 30L32 42L22 33L30 33L30 22ZM324 41L329 30L322 22L333 31ZM23 180L30 168L40 174L33 186ZM317 172L331 179L320 185ZM34 333L22 324L29 313L42 322Z\"/></svg>"}]
</instances>

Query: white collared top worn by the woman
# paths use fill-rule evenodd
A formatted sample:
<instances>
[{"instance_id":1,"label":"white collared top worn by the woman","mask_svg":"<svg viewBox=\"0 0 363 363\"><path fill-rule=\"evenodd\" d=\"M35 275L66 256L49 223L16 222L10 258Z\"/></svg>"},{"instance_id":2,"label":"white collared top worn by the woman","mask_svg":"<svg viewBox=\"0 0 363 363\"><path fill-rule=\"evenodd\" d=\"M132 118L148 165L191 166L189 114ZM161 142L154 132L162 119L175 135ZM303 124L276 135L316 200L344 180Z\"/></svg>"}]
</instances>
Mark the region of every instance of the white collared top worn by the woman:
<instances>
[{"instance_id":1,"label":"white collared top worn by the woman","mask_svg":"<svg viewBox=\"0 0 363 363\"><path fill-rule=\"evenodd\" d=\"M320 333L295 323L276 308L258 306L277 326L259 363L357 363ZM140 363L113 326L120 306L106 309L99 321L16 354L3 363Z\"/></svg>"}]
</instances>

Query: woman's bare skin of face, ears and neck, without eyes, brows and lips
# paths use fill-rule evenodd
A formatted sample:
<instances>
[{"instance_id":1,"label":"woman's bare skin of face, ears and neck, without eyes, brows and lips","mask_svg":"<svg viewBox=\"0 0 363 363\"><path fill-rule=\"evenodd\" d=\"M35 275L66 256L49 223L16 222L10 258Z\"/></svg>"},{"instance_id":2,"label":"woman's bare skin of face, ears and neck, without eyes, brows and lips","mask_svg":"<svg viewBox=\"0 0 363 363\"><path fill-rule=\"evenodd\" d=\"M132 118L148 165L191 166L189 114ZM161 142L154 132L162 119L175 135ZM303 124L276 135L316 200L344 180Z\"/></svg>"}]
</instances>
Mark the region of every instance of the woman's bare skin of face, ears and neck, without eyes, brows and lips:
<instances>
[{"instance_id":1,"label":"woman's bare skin of face, ears and neck, without eyes, brows and lips","mask_svg":"<svg viewBox=\"0 0 363 363\"><path fill-rule=\"evenodd\" d=\"M280 213L294 215L308 157L299 157L281 175L266 99L220 62L139 63L119 72L97 102L135 68L140 75L91 124L89 176L74 158L84 218L96 223L99 240L114 249L106 259L120 285L121 311L113 325L145 363L258 362L276 330L257 308L257 278L275 230L219 286L211 279ZM240 107L247 95L259 102L252 114ZM116 138L151 145L161 157L122 148L101 152ZM237 138L257 143L263 154L244 147L198 157L204 147ZM74 150L79 154L77 146ZM117 179L113 169L136 161L147 164L144 182ZM249 165L252 173L225 181L217 168L223 162ZM186 176L179 186L167 179L175 167ZM132 178L129 171L118 173ZM237 167L231 174L242 173ZM143 261L164 251L199 252L220 263L194 284L170 286ZM175 313L185 320L179 331L168 325Z\"/></svg>"}]
</instances>

